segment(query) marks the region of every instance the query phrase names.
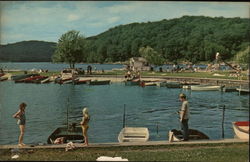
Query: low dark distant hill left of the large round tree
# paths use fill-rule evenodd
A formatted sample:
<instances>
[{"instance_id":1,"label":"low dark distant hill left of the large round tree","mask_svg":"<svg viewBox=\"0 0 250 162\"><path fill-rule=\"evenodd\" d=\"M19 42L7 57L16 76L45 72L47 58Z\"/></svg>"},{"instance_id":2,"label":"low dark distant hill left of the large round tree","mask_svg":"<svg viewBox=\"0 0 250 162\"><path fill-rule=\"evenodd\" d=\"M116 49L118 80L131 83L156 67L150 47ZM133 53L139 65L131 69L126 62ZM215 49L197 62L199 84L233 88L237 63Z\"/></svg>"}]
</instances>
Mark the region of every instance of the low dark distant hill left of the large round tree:
<instances>
[{"instance_id":1,"label":"low dark distant hill left of the large round tree","mask_svg":"<svg viewBox=\"0 0 250 162\"><path fill-rule=\"evenodd\" d=\"M22 41L0 45L0 62L50 62L56 43Z\"/></svg>"}]
</instances>

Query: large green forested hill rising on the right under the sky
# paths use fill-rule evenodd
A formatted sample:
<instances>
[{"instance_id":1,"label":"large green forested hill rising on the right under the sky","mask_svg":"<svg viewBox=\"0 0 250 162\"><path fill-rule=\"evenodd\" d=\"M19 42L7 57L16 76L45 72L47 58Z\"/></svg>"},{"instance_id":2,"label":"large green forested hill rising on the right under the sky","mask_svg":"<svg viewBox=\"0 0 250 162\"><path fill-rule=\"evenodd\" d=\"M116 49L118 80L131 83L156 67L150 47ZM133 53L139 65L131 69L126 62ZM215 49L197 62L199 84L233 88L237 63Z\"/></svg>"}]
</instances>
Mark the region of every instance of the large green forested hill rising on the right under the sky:
<instances>
[{"instance_id":1,"label":"large green forested hill rising on the right under the sky","mask_svg":"<svg viewBox=\"0 0 250 162\"><path fill-rule=\"evenodd\" d=\"M89 37L87 61L124 61L150 46L167 61L213 61L218 51L230 59L249 45L250 19L183 16L132 23Z\"/></svg>"}]
</instances>

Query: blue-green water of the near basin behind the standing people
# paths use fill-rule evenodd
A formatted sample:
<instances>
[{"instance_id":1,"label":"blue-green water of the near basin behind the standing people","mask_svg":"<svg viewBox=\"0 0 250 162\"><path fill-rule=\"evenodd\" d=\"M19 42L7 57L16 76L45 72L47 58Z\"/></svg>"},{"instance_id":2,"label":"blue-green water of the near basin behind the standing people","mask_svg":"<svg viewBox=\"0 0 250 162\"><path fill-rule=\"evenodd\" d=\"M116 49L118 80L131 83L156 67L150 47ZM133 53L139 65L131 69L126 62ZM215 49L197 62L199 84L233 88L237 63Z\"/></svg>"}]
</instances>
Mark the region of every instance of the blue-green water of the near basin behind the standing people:
<instances>
[{"instance_id":1,"label":"blue-green water of the near basin behind the standing people","mask_svg":"<svg viewBox=\"0 0 250 162\"><path fill-rule=\"evenodd\" d=\"M126 125L148 127L150 140L167 140L168 131L179 129L181 103L178 94L187 94L190 128L201 130L211 139L221 138L222 105L225 110L225 138L233 138L233 121L249 120L249 95L219 91L194 92L166 87L111 85L15 84L0 82L0 144L17 144L19 128L12 115L21 102L27 103L24 143L46 143L48 136L69 122L80 122L82 108L91 115L89 142L118 142L126 104ZM158 125L158 133L157 133Z\"/></svg>"}]
</instances>

